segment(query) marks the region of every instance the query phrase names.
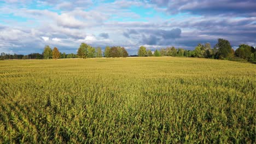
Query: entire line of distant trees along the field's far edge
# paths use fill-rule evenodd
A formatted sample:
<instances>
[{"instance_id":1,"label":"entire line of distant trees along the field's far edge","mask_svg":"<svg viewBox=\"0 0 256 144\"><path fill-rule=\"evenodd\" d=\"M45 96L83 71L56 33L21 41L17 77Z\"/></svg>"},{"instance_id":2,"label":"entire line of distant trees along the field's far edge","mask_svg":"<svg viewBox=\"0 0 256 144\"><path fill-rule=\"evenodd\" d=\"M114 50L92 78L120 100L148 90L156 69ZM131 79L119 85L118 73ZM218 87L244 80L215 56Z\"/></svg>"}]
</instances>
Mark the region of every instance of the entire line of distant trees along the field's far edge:
<instances>
[{"instance_id":1,"label":"entire line of distant trees along the field's far edge","mask_svg":"<svg viewBox=\"0 0 256 144\"><path fill-rule=\"evenodd\" d=\"M138 49L137 55L130 55L125 47L121 46L106 46L104 52L101 47L92 47L88 44L82 43L77 50L77 53L65 52L61 53L57 47L52 50L50 46L46 45L44 51L41 53L31 53L29 55L16 55L2 52L0 60L4 59L58 59L58 58L94 58L94 57L197 57L197 58L212 58L212 59L227 59L237 62L252 62L256 63L256 47L247 44L241 44L234 50L230 42L225 39L218 39L218 43L211 48L210 43L198 44L194 50L185 50L176 47L166 47L162 49L155 49L152 51L145 46Z\"/></svg>"}]
</instances>

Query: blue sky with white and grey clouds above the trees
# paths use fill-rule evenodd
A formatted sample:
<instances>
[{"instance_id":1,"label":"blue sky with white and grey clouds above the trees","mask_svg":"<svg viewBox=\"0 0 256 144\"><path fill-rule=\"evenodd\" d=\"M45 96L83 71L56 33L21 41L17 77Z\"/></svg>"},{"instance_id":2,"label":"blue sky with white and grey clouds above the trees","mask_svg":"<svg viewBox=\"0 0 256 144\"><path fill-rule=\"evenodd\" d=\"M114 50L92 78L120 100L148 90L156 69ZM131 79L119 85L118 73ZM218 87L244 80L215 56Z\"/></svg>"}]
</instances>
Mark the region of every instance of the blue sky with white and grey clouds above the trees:
<instances>
[{"instance_id":1,"label":"blue sky with white and grey clouds above the trees","mask_svg":"<svg viewBox=\"0 0 256 144\"><path fill-rule=\"evenodd\" d=\"M193 50L218 38L256 46L256 1L0 0L0 52L42 53L44 46L76 53L81 43Z\"/></svg>"}]
</instances>

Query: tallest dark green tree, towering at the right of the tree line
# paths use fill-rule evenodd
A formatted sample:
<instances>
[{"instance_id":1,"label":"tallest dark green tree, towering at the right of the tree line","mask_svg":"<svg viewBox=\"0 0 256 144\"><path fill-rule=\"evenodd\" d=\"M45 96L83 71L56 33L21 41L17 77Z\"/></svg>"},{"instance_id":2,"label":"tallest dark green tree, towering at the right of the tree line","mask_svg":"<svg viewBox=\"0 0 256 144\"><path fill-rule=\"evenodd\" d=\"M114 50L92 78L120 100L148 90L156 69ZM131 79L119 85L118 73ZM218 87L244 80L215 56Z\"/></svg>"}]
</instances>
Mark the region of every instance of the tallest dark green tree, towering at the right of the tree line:
<instances>
[{"instance_id":1,"label":"tallest dark green tree, towering at the right of the tree line","mask_svg":"<svg viewBox=\"0 0 256 144\"><path fill-rule=\"evenodd\" d=\"M232 56L232 47L228 40L218 39L218 43L216 44L218 49L217 57L220 59L228 58Z\"/></svg>"}]
</instances>

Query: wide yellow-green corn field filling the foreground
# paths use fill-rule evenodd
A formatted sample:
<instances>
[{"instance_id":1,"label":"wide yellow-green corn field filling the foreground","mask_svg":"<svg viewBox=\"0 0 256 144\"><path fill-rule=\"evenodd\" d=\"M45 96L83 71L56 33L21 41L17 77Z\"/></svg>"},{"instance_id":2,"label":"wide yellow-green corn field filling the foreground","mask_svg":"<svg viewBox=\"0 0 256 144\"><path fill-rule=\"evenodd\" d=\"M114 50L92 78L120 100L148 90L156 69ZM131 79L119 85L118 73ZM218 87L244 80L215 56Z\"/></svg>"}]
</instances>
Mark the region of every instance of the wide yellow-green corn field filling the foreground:
<instances>
[{"instance_id":1,"label":"wide yellow-green corn field filling the foreground","mask_svg":"<svg viewBox=\"0 0 256 144\"><path fill-rule=\"evenodd\" d=\"M144 57L0 62L0 143L253 143L256 65Z\"/></svg>"}]
</instances>

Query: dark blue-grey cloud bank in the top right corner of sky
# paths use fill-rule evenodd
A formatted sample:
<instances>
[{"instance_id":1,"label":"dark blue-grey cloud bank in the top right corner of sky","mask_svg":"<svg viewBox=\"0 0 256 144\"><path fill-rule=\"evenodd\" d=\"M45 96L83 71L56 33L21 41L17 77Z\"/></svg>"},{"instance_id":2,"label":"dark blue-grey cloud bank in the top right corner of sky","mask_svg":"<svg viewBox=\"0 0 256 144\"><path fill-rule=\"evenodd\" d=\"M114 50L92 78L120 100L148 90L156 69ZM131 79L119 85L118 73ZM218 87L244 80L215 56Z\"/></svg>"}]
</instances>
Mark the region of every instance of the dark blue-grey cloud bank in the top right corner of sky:
<instances>
[{"instance_id":1,"label":"dark blue-grey cloud bank in the top right corner of sky","mask_svg":"<svg viewBox=\"0 0 256 144\"><path fill-rule=\"evenodd\" d=\"M243 15L256 16L254 0L183 0L183 1L166 1L153 0L151 3L160 7L167 7L168 13L185 12L200 15Z\"/></svg>"}]
</instances>

